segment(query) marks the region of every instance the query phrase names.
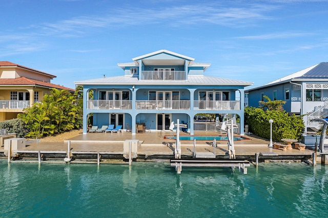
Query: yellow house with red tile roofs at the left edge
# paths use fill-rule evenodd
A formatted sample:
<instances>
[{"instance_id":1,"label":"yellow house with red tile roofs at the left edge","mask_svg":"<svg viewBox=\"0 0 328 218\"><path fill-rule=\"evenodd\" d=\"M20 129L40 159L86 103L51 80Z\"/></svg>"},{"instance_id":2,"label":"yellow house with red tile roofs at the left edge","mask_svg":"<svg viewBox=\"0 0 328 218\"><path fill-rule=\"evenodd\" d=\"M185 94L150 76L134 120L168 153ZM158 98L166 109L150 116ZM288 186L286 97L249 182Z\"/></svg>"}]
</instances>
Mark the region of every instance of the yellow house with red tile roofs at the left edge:
<instances>
[{"instance_id":1,"label":"yellow house with red tile roofs at the left edge","mask_svg":"<svg viewBox=\"0 0 328 218\"><path fill-rule=\"evenodd\" d=\"M56 76L9 61L0 61L0 122L17 118L24 108L42 101L50 88L74 89L50 83Z\"/></svg>"}]
</instances>

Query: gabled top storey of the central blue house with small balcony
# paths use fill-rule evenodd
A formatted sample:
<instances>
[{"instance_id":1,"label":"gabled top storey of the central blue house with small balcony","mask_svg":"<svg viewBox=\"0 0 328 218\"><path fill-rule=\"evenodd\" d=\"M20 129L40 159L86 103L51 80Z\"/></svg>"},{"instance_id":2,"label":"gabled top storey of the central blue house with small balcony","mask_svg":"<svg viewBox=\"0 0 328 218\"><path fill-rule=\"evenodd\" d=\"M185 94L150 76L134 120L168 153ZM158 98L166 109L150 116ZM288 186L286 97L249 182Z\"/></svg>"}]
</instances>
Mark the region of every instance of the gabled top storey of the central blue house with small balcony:
<instances>
[{"instance_id":1,"label":"gabled top storey of the central blue house with small balcony","mask_svg":"<svg viewBox=\"0 0 328 218\"><path fill-rule=\"evenodd\" d=\"M120 63L125 75L138 77L145 81L181 81L188 76L203 76L210 66L196 63L194 58L180 55L167 50L159 50L132 59L130 63Z\"/></svg>"}]
</instances>

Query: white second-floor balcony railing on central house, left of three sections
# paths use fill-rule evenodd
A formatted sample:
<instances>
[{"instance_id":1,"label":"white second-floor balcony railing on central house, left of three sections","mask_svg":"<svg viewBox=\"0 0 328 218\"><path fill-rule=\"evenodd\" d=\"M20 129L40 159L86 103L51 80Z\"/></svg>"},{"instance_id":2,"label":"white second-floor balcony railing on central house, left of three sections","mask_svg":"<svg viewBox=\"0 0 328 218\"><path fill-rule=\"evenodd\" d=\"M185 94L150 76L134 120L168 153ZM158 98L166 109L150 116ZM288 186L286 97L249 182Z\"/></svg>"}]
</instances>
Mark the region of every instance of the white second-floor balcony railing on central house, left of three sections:
<instances>
[{"instance_id":1,"label":"white second-floor balcony railing on central house, left of three sections","mask_svg":"<svg viewBox=\"0 0 328 218\"><path fill-rule=\"evenodd\" d=\"M87 109L132 109L131 100L88 100Z\"/></svg>"}]
</instances>

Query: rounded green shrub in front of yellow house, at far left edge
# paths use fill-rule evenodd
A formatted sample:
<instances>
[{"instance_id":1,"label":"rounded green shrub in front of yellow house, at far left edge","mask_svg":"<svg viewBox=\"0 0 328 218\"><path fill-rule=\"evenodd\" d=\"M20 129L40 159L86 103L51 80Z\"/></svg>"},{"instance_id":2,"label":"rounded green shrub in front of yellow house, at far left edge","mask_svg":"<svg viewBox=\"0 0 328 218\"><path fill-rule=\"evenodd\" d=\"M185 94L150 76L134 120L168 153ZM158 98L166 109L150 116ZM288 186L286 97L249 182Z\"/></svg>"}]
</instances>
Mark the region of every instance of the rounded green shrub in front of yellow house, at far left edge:
<instances>
[{"instance_id":1,"label":"rounded green shrub in front of yellow house, at far left edge","mask_svg":"<svg viewBox=\"0 0 328 218\"><path fill-rule=\"evenodd\" d=\"M22 119L10 119L0 122L0 129L6 129L7 133L16 133L17 138L24 138L29 132Z\"/></svg>"}]
</instances>

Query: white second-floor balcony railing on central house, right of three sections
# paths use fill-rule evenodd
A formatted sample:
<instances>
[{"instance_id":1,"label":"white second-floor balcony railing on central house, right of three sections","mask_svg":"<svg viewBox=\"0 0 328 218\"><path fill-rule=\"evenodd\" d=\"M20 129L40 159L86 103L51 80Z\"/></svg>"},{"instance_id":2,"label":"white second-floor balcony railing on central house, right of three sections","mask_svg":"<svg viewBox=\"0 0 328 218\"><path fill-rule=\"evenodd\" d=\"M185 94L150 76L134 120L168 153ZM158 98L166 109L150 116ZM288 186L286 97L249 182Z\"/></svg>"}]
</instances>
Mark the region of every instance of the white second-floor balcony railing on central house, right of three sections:
<instances>
[{"instance_id":1,"label":"white second-floor balcony railing on central house, right of three sections","mask_svg":"<svg viewBox=\"0 0 328 218\"><path fill-rule=\"evenodd\" d=\"M194 101L198 110L240 110L240 101Z\"/></svg>"}]
</instances>

